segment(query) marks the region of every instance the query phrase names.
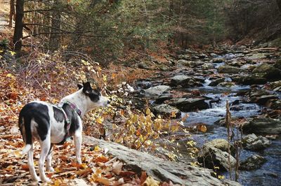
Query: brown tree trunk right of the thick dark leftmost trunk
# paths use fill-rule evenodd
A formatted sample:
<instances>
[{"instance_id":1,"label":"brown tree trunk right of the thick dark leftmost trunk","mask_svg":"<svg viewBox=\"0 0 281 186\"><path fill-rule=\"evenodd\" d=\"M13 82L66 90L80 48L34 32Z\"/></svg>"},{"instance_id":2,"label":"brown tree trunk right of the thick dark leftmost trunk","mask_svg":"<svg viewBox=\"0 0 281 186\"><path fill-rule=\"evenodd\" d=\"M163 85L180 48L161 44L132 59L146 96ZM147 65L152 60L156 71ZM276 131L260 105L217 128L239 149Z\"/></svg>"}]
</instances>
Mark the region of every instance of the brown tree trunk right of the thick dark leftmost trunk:
<instances>
[{"instance_id":1,"label":"brown tree trunk right of the thick dark leftmost trunk","mask_svg":"<svg viewBox=\"0 0 281 186\"><path fill-rule=\"evenodd\" d=\"M53 6L53 12L52 12L52 29L51 29L51 36L50 40L48 43L49 48L51 50L57 50L58 45L60 44L60 34L53 34L55 32L58 32L58 29L60 29L60 11L58 11L58 6L59 6L59 1L55 0L54 1L54 6Z\"/></svg>"}]
</instances>

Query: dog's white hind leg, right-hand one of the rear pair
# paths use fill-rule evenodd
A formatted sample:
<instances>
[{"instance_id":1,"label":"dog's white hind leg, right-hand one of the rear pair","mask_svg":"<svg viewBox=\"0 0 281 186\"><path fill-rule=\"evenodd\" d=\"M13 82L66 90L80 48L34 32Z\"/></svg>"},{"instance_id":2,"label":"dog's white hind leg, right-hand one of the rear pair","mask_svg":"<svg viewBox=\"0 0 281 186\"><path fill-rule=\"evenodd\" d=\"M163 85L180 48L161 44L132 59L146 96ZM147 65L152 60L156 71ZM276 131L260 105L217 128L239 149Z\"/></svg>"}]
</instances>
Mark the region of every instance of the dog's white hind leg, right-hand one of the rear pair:
<instances>
[{"instance_id":1,"label":"dog's white hind leg, right-hand one of the rear pair","mask_svg":"<svg viewBox=\"0 0 281 186\"><path fill-rule=\"evenodd\" d=\"M40 173L40 178L43 182L50 182L51 180L46 177L45 175L45 170L44 170L44 164L45 164L45 159L48 155L48 152L51 148L51 138L49 135L47 135L46 139L44 141L40 141L41 145L41 154L39 158L39 173Z\"/></svg>"}]
</instances>

